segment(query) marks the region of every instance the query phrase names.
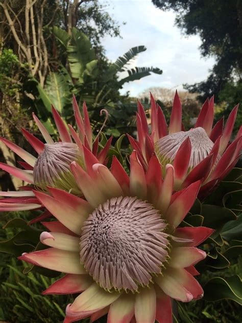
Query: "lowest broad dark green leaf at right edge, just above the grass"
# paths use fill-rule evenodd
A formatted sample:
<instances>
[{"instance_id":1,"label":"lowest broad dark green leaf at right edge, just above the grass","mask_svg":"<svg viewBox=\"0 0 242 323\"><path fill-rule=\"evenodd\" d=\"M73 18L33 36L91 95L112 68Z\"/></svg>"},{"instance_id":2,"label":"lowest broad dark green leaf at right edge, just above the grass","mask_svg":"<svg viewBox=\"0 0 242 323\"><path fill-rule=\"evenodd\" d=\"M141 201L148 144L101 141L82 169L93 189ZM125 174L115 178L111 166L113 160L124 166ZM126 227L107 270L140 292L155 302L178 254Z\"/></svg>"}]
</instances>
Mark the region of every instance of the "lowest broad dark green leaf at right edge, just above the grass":
<instances>
[{"instance_id":1,"label":"lowest broad dark green leaf at right edge, just above the grass","mask_svg":"<svg viewBox=\"0 0 242 323\"><path fill-rule=\"evenodd\" d=\"M206 301L214 302L228 298L242 305L242 283L238 275L226 279L214 277L204 286Z\"/></svg>"}]
</instances>

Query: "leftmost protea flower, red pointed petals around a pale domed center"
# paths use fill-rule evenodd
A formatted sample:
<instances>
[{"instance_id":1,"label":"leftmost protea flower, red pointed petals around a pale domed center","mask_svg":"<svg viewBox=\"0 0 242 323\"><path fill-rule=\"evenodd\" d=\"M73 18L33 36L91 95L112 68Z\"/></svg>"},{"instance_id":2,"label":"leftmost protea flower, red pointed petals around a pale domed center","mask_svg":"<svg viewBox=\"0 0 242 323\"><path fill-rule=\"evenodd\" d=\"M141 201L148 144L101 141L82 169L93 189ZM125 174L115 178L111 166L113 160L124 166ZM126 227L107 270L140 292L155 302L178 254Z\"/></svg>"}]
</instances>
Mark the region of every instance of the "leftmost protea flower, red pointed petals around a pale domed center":
<instances>
[{"instance_id":1,"label":"leftmost protea flower, red pointed petals around a pale domed center","mask_svg":"<svg viewBox=\"0 0 242 323\"><path fill-rule=\"evenodd\" d=\"M82 195L69 165L72 162L77 162L81 167L86 167L83 158L83 147L91 150L97 156L99 163L105 163L112 139L110 138L106 146L98 152L99 140L97 136L93 141L86 104L83 104L84 118L81 116L75 97L73 99L73 108L78 132L71 125L68 125L69 130L67 130L65 122L61 119L57 110L52 107L53 117L59 132L59 140L57 142L53 141L49 132L34 113L34 121L45 143L41 142L27 130L21 129L23 135L37 152L37 158L7 139L0 138L2 142L24 160L24 162L18 162L24 169L4 163L0 163L0 168L31 184L30 186L20 188L17 192L0 192L0 196L7 197L0 200L0 211L38 209L41 203L36 199L32 191L33 188L46 191L47 187L54 187L75 195Z\"/></svg>"}]
</instances>

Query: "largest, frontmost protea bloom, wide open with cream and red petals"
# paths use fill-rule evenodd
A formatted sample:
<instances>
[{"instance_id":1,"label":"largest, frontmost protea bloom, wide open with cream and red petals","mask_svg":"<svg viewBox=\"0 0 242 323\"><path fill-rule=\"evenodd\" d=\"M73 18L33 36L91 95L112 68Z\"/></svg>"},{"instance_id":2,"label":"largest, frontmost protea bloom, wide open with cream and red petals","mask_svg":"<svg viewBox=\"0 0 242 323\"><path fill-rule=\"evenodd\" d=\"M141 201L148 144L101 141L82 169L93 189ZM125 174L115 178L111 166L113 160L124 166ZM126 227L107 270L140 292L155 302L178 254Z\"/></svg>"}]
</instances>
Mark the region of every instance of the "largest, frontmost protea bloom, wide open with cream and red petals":
<instances>
[{"instance_id":1,"label":"largest, frontmost protea bloom, wide open with cream and red petals","mask_svg":"<svg viewBox=\"0 0 242 323\"><path fill-rule=\"evenodd\" d=\"M40 240L51 248L19 258L66 273L44 294L80 293L66 308L65 322L108 313L108 323L172 322L171 298L189 302L203 296L193 275L206 257L196 248L213 230L179 227L200 181L173 195L174 168L164 180L156 156L145 173L136 152L130 176L114 157L111 171L84 149L86 171L71 170L86 200L58 189L35 192L58 221ZM68 215L68 216L66 216Z\"/></svg>"}]
</instances>

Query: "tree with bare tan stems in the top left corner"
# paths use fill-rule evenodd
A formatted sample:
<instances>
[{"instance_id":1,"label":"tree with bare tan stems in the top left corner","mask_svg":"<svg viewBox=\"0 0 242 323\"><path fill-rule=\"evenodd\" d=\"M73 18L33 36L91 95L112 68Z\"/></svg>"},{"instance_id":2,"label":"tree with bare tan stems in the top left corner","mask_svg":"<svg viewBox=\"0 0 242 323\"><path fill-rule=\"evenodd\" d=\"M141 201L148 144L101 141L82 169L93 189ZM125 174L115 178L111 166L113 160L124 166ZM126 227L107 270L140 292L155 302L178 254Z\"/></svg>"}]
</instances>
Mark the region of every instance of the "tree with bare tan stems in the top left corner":
<instances>
[{"instance_id":1,"label":"tree with bare tan stems in the top left corner","mask_svg":"<svg viewBox=\"0 0 242 323\"><path fill-rule=\"evenodd\" d=\"M11 48L20 62L27 62L31 76L43 86L50 70L61 61L56 50L53 26L72 28L89 35L99 58L104 59L101 38L119 36L119 26L98 0L0 0L1 48Z\"/></svg>"}]
</instances>

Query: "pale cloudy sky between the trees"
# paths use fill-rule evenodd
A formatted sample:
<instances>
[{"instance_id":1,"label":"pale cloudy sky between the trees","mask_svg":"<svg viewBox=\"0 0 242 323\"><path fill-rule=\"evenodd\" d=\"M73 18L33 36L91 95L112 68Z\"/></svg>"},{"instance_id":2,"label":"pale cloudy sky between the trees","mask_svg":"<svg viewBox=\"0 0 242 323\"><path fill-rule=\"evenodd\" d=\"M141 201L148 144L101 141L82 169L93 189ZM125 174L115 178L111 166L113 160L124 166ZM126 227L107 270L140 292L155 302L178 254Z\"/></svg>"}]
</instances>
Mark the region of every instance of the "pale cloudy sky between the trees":
<instances>
[{"instance_id":1,"label":"pale cloudy sky between the trees","mask_svg":"<svg viewBox=\"0 0 242 323\"><path fill-rule=\"evenodd\" d=\"M111 61L125 54L130 48L145 45L146 52L138 55L132 66L159 67L162 75L153 74L141 80L126 83L122 94L130 91L138 96L149 87L182 89L182 84L205 80L214 59L200 54L198 35L185 36L175 26L175 13L157 9L151 0L107 0L106 10L120 25L123 38L105 36L103 45ZM126 25L122 23L126 22ZM126 72L127 73L127 72ZM122 78L126 75L122 75Z\"/></svg>"}]
</instances>

